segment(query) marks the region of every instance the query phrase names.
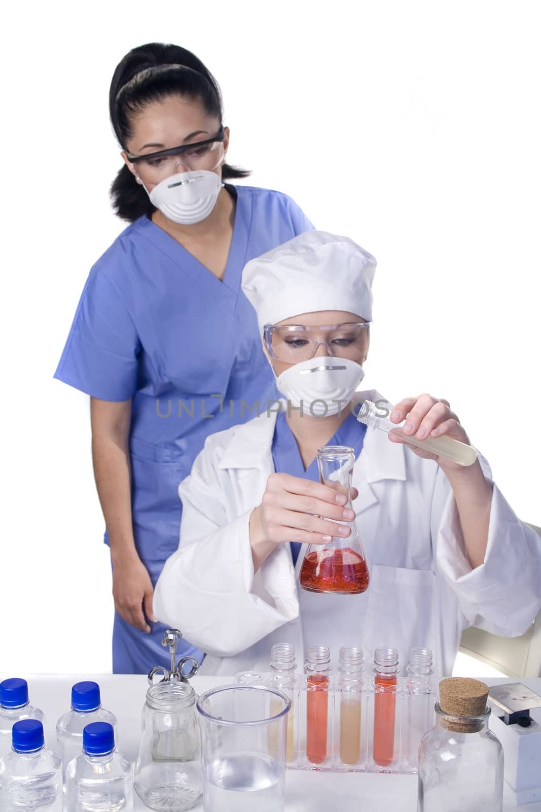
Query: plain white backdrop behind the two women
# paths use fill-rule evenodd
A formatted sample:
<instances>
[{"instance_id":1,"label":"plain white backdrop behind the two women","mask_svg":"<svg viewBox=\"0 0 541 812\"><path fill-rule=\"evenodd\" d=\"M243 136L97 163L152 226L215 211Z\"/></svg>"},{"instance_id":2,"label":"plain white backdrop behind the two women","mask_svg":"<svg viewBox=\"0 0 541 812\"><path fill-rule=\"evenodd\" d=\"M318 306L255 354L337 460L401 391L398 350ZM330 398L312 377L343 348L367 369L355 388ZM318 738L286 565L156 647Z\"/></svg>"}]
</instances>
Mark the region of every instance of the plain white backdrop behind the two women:
<instances>
[{"instance_id":1,"label":"plain white backdrop behind the two women","mask_svg":"<svg viewBox=\"0 0 541 812\"><path fill-rule=\"evenodd\" d=\"M11 15L11 16L10 16ZM148 41L221 84L230 162L373 253L368 387L448 399L539 499L538 2L21 3L2 37L2 671L108 672L88 398L52 376L126 226L109 81ZM519 587L519 585L517 585Z\"/></svg>"}]
</instances>

